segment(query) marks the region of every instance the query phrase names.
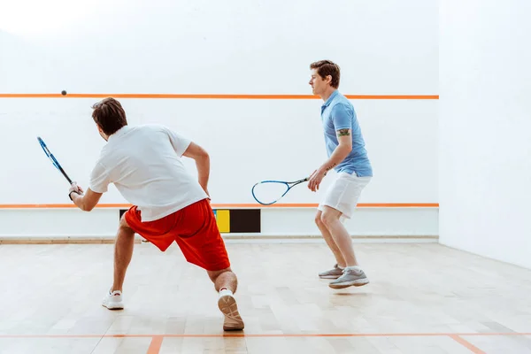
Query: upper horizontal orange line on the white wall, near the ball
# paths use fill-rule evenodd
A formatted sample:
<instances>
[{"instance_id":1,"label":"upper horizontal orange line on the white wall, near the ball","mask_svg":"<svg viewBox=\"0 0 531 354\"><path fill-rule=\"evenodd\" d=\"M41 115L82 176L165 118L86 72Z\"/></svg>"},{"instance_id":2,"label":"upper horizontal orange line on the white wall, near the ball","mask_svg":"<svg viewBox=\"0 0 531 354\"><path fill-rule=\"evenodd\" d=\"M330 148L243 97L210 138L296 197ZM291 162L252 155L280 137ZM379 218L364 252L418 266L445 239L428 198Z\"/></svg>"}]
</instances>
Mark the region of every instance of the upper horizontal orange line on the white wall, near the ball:
<instances>
[{"instance_id":1,"label":"upper horizontal orange line on the white wall, near the ball","mask_svg":"<svg viewBox=\"0 0 531 354\"><path fill-rule=\"evenodd\" d=\"M438 100L439 95L345 95L350 99ZM243 94L1 94L0 98L319 99L315 95Z\"/></svg>"}]
</instances>

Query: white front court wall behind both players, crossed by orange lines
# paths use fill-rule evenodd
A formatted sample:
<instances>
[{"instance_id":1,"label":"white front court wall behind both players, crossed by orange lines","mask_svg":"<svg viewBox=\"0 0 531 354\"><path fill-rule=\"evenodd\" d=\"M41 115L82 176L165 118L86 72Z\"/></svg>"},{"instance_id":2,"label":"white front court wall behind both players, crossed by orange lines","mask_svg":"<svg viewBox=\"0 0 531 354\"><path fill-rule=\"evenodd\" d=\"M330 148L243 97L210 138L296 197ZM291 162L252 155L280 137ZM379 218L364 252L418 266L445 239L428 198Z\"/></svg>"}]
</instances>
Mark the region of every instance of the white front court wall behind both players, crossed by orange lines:
<instances>
[{"instance_id":1,"label":"white front court wall behind both players, crossed by orange lines","mask_svg":"<svg viewBox=\"0 0 531 354\"><path fill-rule=\"evenodd\" d=\"M308 65L321 58L341 65L344 94L438 94L435 1L336 1L327 7L318 1L239 0L227 5L142 0L104 6L92 1L83 11L73 6L51 2L42 8L48 21L28 18L27 23L17 16L24 13L23 6L12 4L2 12L0 94L58 94L65 89L111 96L309 95ZM65 11L72 16L65 16ZM19 208L69 203L68 186L44 157L35 137L41 135L73 179L86 186L104 145L90 118L90 105L98 99L0 98L0 150L5 162L0 204L15 205L0 210L0 221L24 223L38 212L63 218L62 209ZM256 203L250 195L256 181L298 180L327 158L319 99L120 101L130 124L162 123L209 150L213 204ZM374 169L373 181L359 202L438 203L438 101L352 102ZM191 161L187 165L196 173ZM318 193L297 188L282 203L317 204L330 182L330 177L325 179ZM101 203L127 202L111 188ZM270 220L264 221L268 223L265 230L317 233L313 210L281 211L282 217L274 212L273 219L265 217ZM100 212L114 215L116 211ZM300 212L311 227L298 231L293 226L275 228L284 225L278 218L296 219ZM366 226L362 221L350 223L353 234L436 234L436 208L371 208L362 213L362 219L373 222ZM406 226L389 227L395 225L392 220L398 213L408 220L402 223ZM89 218L83 213L74 215ZM16 235L16 229L0 230L0 235L12 233ZM45 234L35 228L24 235L33 233Z\"/></svg>"}]
</instances>

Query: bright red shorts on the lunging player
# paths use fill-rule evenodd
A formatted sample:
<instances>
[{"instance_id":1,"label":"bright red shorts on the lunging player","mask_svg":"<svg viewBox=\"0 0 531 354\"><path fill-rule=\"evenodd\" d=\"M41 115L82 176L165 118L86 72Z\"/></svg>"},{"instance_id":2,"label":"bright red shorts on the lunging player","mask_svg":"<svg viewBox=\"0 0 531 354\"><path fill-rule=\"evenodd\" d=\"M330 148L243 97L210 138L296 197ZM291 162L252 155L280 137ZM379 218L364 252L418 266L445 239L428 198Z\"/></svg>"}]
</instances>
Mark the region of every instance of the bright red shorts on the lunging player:
<instances>
[{"instance_id":1,"label":"bright red shorts on the lunging player","mask_svg":"<svg viewBox=\"0 0 531 354\"><path fill-rule=\"evenodd\" d=\"M142 222L141 212L136 206L132 206L124 217L135 233L163 252L175 241L189 263L208 271L219 271L230 266L225 242L219 234L208 199L154 221Z\"/></svg>"}]
</instances>

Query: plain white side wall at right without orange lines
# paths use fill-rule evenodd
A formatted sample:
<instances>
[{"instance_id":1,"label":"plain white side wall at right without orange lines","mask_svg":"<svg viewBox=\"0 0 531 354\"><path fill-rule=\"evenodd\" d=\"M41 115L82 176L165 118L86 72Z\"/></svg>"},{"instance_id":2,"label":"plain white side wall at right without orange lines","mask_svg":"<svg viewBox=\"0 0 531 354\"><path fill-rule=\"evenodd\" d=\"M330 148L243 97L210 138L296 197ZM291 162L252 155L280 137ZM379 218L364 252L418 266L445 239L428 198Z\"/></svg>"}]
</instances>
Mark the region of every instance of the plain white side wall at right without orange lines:
<instances>
[{"instance_id":1,"label":"plain white side wall at right without orange lines","mask_svg":"<svg viewBox=\"0 0 531 354\"><path fill-rule=\"evenodd\" d=\"M441 4L440 242L531 268L531 4Z\"/></svg>"}]
</instances>

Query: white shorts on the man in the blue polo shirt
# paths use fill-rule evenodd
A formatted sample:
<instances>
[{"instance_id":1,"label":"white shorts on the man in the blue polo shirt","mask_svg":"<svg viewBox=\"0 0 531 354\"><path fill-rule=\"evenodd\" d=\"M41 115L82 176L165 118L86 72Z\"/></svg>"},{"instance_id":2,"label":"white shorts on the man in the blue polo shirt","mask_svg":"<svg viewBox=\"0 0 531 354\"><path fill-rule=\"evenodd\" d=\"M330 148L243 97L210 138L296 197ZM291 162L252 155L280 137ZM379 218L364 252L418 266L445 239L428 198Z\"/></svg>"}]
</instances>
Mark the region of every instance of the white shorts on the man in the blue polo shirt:
<instances>
[{"instance_id":1,"label":"white shorts on the man in the blue polo shirt","mask_svg":"<svg viewBox=\"0 0 531 354\"><path fill-rule=\"evenodd\" d=\"M324 211L323 206L327 205L342 212L342 218L350 219L354 208L358 204L361 191L366 188L372 177L358 177L356 173L337 173L337 178L328 188L323 201L317 209Z\"/></svg>"}]
</instances>

